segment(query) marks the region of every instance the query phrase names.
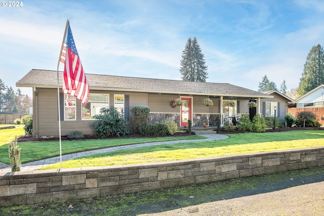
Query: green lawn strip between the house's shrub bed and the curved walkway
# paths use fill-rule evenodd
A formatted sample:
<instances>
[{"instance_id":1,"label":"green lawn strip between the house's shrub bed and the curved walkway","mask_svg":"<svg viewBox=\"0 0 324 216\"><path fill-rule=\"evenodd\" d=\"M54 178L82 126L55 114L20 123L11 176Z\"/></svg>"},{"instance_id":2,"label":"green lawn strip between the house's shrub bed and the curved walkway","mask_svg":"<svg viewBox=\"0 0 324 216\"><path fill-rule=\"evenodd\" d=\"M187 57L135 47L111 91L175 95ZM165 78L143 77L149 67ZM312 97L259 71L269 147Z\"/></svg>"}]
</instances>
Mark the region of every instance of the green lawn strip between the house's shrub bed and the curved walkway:
<instances>
[{"instance_id":1,"label":"green lawn strip between the house's shrub bed and the curved walkway","mask_svg":"<svg viewBox=\"0 0 324 216\"><path fill-rule=\"evenodd\" d=\"M1 131L1 130L0 130ZM13 134L11 140L15 138ZM100 140L77 140L77 141L62 141L62 154L82 152L93 149L107 148L112 146L123 146L138 143L183 140L183 139L204 139L203 136L189 137L157 137L157 138L112 138ZM60 155L59 141L49 142L21 142L18 143L21 148L20 161L22 163L41 160L45 158L55 157ZM8 144L0 146L0 162L10 163Z\"/></svg>"}]
</instances>

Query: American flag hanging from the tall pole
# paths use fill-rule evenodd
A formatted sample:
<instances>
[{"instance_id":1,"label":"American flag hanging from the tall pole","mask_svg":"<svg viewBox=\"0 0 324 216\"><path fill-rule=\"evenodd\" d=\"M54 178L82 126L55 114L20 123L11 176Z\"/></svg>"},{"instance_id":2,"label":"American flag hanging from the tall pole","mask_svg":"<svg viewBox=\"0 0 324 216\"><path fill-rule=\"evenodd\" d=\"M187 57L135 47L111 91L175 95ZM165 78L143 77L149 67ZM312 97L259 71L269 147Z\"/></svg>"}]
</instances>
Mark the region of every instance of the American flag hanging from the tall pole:
<instances>
[{"instance_id":1,"label":"American flag hanging from the tall pole","mask_svg":"<svg viewBox=\"0 0 324 216\"><path fill-rule=\"evenodd\" d=\"M70 23L66 31L60 61L64 63L63 92L68 95L73 95L83 104L87 104L89 85L76 51Z\"/></svg>"}]
</instances>

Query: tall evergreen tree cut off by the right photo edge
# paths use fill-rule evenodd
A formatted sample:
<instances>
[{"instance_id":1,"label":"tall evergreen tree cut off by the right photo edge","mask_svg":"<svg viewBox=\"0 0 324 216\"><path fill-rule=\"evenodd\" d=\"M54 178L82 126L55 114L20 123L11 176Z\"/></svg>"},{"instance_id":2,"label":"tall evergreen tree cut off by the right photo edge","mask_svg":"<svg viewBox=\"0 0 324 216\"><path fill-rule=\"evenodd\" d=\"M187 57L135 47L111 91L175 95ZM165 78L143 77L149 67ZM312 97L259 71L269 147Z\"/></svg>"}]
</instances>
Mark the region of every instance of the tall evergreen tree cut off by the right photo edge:
<instances>
[{"instance_id":1,"label":"tall evergreen tree cut off by the right photo edge","mask_svg":"<svg viewBox=\"0 0 324 216\"><path fill-rule=\"evenodd\" d=\"M310 50L300 78L298 95L302 96L324 83L324 51L318 44Z\"/></svg>"}]
</instances>

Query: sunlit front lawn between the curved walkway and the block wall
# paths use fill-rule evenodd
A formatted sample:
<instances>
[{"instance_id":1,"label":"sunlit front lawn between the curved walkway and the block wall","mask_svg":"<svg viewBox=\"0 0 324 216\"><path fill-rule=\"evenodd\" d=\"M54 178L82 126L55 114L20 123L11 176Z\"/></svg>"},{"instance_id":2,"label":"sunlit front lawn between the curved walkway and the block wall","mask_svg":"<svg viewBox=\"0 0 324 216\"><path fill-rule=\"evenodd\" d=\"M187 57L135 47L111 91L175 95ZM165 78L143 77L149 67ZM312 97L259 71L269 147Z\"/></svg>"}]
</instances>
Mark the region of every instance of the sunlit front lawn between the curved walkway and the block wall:
<instances>
[{"instance_id":1,"label":"sunlit front lawn between the curved walkway and the block wall","mask_svg":"<svg viewBox=\"0 0 324 216\"><path fill-rule=\"evenodd\" d=\"M245 133L229 139L119 150L64 161L64 168L136 164L324 146L324 131ZM44 169L60 168L60 163Z\"/></svg>"}]
</instances>

